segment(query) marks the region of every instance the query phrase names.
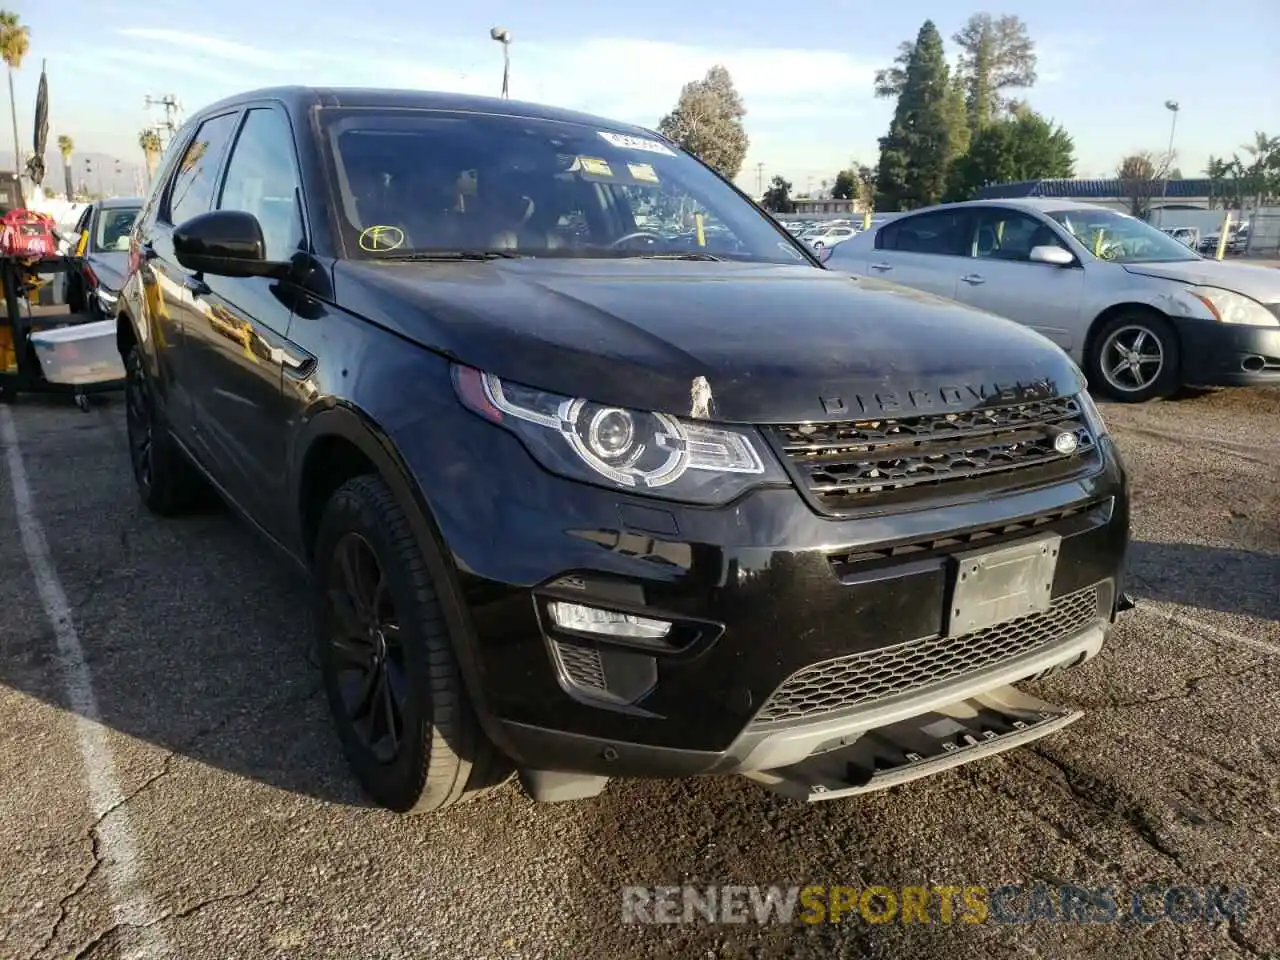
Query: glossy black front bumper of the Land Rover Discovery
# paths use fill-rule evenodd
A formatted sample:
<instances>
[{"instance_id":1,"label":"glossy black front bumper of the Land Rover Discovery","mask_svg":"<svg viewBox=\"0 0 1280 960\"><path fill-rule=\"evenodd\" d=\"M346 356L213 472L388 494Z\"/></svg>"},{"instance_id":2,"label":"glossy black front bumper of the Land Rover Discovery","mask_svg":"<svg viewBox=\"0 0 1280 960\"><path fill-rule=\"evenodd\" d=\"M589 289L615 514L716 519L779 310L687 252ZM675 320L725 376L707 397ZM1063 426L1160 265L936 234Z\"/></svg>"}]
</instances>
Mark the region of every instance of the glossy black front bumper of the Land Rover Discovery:
<instances>
[{"instance_id":1,"label":"glossy black front bumper of the Land Rover Discovery","mask_svg":"<svg viewBox=\"0 0 1280 960\"><path fill-rule=\"evenodd\" d=\"M832 520L794 489L709 509L573 483L461 408L442 406L433 417L433 433L453 438L457 462L442 466L439 448L415 444L404 448L407 466L434 480L428 495L467 600L471 636L458 654L476 712L521 767L684 777L785 765L1092 657L1121 594L1128 486L1108 440L1101 468L1069 483ZM475 465L484 465L484 483ZM763 713L814 664L838 668L942 632L954 558L947 545L922 544L968 534L1018 540L1033 522L1034 532L1062 538L1055 603L1094 591L1087 609L1075 600L1061 632L1019 641L1010 657L988 652L973 669L961 662L934 672L936 682L884 687L872 701L846 691L799 716ZM553 598L673 621L687 646L582 644L550 623Z\"/></svg>"}]
</instances>

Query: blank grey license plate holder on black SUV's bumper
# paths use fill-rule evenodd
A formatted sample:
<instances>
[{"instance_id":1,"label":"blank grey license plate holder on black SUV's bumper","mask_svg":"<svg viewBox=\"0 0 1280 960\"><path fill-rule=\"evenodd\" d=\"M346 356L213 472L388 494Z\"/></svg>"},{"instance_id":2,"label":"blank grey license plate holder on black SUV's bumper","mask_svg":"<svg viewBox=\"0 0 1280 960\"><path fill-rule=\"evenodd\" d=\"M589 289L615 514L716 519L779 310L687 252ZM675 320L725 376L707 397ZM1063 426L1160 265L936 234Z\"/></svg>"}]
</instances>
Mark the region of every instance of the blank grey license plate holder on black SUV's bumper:
<instances>
[{"instance_id":1,"label":"blank grey license plate holder on black SUV's bumper","mask_svg":"<svg viewBox=\"0 0 1280 960\"><path fill-rule=\"evenodd\" d=\"M1061 536L1044 534L1007 547L952 554L946 636L972 634L1047 611L1061 547Z\"/></svg>"}]
</instances>

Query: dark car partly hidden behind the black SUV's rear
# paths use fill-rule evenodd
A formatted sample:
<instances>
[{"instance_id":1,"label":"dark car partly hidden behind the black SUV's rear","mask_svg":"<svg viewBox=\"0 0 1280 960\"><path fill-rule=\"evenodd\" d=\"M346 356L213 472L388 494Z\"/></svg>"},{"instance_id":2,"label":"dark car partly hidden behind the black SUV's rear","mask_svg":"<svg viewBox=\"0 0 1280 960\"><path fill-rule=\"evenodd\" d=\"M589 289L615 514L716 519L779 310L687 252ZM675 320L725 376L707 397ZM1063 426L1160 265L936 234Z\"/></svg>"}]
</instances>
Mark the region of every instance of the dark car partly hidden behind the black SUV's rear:
<instances>
[{"instance_id":1,"label":"dark car partly hidden behind the black SUV's rear","mask_svg":"<svg viewBox=\"0 0 1280 960\"><path fill-rule=\"evenodd\" d=\"M116 298L129 271L129 232L141 209L141 197L95 200L84 207L72 233L72 246L81 250L83 266L67 279L67 302L73 312L102 319L118 314Z\"/></svg>"}]
</instances>

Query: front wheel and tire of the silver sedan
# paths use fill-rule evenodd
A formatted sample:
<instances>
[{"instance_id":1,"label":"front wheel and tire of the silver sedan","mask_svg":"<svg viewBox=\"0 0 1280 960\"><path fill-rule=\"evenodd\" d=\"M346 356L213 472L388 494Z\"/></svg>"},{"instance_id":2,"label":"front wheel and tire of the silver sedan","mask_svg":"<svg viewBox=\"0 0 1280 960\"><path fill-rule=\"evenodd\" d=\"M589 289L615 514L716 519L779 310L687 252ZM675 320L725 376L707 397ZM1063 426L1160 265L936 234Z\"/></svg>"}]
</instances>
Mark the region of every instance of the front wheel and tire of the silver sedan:
<instances>
[{"instance_id":1,"label":"front wheel and tire of the silver sedan","mask_svg":"<svg viewBox=\"0 0 1280 960\"><path fill-rule=\"evenodd\" d=\"M1134 358L1137 367L1117 369ZM1085 358L1089 388L1121 403L1170 396L1181 385L1180 371L1181 351L1174 325L1153 310L1126 310L1107 320Z\"/></svg>"}]
</instances>

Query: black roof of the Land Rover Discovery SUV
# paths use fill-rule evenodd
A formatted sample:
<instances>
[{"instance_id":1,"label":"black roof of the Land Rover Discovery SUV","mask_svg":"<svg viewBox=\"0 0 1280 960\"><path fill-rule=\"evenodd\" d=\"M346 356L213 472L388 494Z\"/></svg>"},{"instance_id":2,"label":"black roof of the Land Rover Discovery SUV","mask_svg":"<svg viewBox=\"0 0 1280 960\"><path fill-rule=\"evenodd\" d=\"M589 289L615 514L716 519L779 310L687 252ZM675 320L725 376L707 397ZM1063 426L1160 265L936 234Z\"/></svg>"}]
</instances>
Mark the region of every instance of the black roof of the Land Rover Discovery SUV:
<instances>
[{"instance_id":1,"label":"black roof of the Land Rover Discovery SUV","mask_svg":"<svg viewBox=\"0 0 1280 960\"><path fill-rule=\"evenodd\" d=\"M381 106L389 109L417 110L460 110L467 113L504 114L532 120L558 120L561 123L581 123L590 127L603 127L618 133L666 140L645 127L618 123L603 116L562 110L543 104L530 104L522 100L503 100L470 93L444 93L428 90L392 90L380 87L262 87L219 100L202 108L197 115L215 110L238 106L253 100L278 100L291 111L302 113L312 106Z\"/></svg>"}]
</instances>

